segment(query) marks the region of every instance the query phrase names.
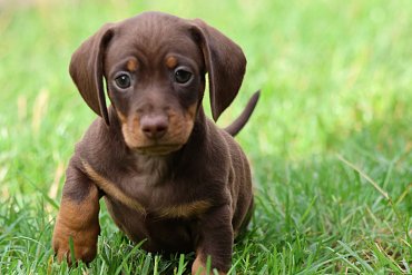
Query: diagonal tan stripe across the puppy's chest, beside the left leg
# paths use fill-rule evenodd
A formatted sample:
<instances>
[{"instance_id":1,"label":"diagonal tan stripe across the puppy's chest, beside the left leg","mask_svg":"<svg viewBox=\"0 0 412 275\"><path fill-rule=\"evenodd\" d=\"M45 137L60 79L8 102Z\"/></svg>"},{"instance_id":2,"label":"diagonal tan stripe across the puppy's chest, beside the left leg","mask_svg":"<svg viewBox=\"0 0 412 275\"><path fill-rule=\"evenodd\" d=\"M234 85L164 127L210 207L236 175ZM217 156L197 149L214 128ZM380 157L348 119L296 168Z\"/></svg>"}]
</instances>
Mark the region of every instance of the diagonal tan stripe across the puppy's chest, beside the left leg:
<instances>
[{"instance_id":1,"label":"diagonal tan stripe across the puppy's chest, beside the left leg","mask_svg":"<svg viewBox=\"0 0 412 275\"><path fill-rule=\"evenodd\" d=\"M81 161L87 175L95 181L95 184L100 187L108 196L115 198L116 200L120 202L121 204L128 206L130 209L135 209L143 215L146 215L145 207L139 204L136 199L130 198L127 196L122 190L116 187L114 183L109 179L99 175L88 163L85 160Z\"/></svg>"}]
</instances>

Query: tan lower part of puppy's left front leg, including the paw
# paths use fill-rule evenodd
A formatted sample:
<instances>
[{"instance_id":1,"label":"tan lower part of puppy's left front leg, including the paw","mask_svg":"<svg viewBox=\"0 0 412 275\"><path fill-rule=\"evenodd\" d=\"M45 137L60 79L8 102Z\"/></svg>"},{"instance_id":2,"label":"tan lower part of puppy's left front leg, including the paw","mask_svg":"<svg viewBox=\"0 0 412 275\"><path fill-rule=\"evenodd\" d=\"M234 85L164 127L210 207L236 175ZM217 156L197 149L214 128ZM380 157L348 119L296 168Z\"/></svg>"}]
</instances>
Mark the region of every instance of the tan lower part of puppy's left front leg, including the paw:
<instances>
[{"instance_id":1,"label":"tan lower part of puppy's left front leg, including the paw","mask_svg":"<svg viewBox=\"0 0 412 275\"><path fill-rule=\"evenodd\" d=\"M90 263L96 257L99 233L99 197L96 187L80 203L62 198L52 237L58 262L66 259L72 264L69 245L71 237L75 258Z\"/></svg>"}]
</instances>

